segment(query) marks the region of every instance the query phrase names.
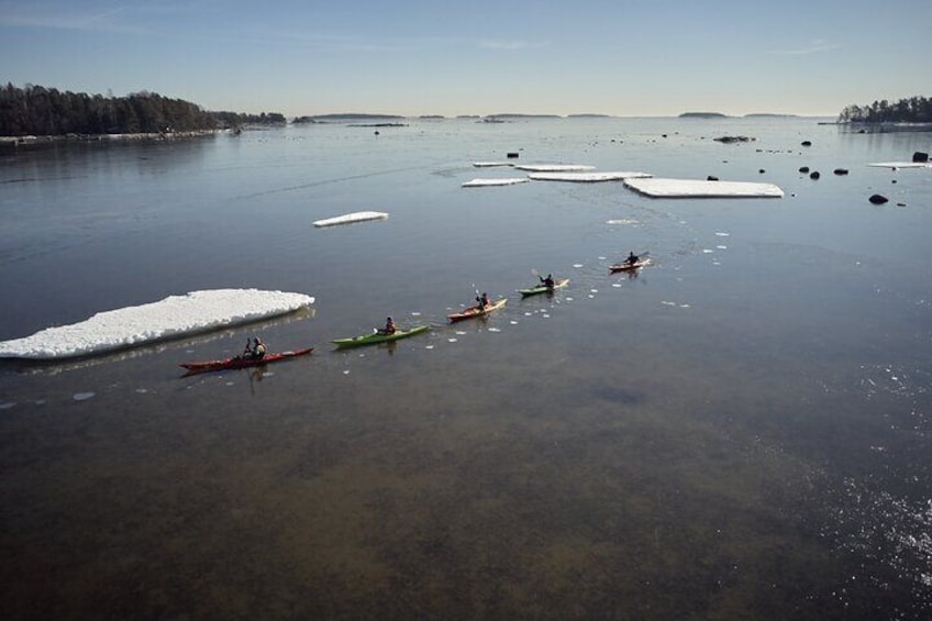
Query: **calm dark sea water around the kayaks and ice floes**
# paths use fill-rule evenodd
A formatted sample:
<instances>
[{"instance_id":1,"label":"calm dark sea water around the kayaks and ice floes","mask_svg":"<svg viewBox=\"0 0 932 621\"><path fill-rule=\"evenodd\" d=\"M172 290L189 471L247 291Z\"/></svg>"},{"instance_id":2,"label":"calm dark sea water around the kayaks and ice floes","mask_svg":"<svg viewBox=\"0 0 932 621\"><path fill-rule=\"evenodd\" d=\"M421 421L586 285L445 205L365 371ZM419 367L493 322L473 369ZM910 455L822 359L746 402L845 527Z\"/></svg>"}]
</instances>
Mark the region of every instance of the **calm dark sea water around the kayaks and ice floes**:
<instances>
[{"instance_id":1,"label":"calm dark sea water around the kayaks and ice floes","mask_svg":"<svg viewBox=\"0 0 932 621\"><path fill-rule=\"evenodd\" d=\"M318 299L0 366L4 618L928 618L932 171L865 164L930 147L544 119L3 153L0 340L198 289ZM461 188L509 152L786 197ZM390 218L312 226L364 210ZM654 265L609 275L631 249ZM535 273L570 287L521 300ZM447 325L477 289L508 306ZM329 345L388 314L435 329ZM256 333L317 350L181 377Z\"/></svg>"}]
</instances>

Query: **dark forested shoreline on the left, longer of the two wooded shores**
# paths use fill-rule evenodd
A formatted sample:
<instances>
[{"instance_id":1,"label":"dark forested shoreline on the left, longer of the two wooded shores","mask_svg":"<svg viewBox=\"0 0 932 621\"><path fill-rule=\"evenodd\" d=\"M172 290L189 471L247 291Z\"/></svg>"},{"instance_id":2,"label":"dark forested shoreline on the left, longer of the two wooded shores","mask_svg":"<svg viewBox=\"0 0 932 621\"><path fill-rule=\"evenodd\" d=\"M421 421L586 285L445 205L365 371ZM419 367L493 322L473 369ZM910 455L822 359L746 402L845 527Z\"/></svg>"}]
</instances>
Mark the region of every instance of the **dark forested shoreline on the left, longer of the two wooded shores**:
<instances>
[{"instance_id":1,"label":"dark forested shoreline on the left, longer of the two wooded shores","mask_svg":"<svg viewBox=\"0 0 932 621\"><path fill-rule=\"evenodd\" d=\"M164 134L285 122L276 112L208 112L190 101L148 91L103 97L10 82L0 88L0 136Z\"/></svg>"}]
</instances>

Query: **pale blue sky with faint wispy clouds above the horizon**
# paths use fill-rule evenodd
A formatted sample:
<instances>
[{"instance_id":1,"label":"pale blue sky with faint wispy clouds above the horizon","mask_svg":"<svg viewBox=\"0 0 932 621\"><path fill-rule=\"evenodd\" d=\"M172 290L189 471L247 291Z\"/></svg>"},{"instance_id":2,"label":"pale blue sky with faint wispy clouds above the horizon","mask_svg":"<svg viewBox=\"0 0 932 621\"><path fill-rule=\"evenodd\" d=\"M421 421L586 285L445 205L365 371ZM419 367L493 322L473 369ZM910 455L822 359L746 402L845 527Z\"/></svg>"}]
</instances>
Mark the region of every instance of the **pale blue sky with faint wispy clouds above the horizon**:
<instances>
[{"instance_id":1,"label":"pale blue sky with faint wispy clouds above the horizon","mask_svg":"<svg viewBox=\"0 0 932 621\"><path fill-rule=\"evenodd\" d=\"M932 0L0 0L0 84L286 117L836 115L932 96Z\"/></svg>"}]
</instances>

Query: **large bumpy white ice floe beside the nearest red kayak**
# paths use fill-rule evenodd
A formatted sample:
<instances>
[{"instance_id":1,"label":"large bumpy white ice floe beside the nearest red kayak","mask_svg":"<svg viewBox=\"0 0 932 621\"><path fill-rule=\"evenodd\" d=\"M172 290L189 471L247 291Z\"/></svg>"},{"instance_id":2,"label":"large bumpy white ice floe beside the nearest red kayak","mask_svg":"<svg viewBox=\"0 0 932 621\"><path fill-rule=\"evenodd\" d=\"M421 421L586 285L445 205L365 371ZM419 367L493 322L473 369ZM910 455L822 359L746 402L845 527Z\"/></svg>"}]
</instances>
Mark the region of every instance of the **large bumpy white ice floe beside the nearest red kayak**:
<instances>
[{"instance_id":1,"label":"large bumpy white ice floe beside the nearest red kayak","mask_svg":"<svg viewBox=\"0 0 932 621\"><path fill-rule=\"evenodd\" d=\"M314 303L303 293L213 289L158 302L99 312L70 325L0 342L0 358L57 359L90 356L185 334L282 315Z\"/></svg>"}]
</instances>

